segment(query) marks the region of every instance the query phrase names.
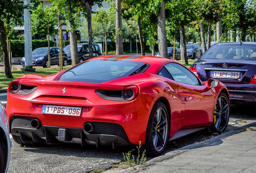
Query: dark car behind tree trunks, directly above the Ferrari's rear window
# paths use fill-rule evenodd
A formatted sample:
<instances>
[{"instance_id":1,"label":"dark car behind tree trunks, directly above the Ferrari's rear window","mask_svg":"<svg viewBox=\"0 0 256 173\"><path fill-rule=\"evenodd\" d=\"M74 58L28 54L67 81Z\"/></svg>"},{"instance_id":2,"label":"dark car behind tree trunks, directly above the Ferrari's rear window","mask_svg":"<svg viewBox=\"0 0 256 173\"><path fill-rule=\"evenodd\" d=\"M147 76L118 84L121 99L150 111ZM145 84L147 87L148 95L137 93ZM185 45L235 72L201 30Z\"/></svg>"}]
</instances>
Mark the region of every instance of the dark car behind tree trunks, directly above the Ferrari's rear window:
<instances>
[{"instance_id":1,"label":"dark car behind tree trunks, directly above the Ferrari's rear window","mask_svg":"<svg viewBox=\"0 0 256 173\"><path fill-rule=\"evenodd\" d=\"M78 49L78 56L79 56L80 62L83 62L84 60L89 59L88 43L77 44L77 49ZM64 51L68 55L68 64L71 64L70 44L64 48ZM99 44L93 43L93 57L96 57L96 56L101 56L101 48Z\"/></svg>"}]
</instances>

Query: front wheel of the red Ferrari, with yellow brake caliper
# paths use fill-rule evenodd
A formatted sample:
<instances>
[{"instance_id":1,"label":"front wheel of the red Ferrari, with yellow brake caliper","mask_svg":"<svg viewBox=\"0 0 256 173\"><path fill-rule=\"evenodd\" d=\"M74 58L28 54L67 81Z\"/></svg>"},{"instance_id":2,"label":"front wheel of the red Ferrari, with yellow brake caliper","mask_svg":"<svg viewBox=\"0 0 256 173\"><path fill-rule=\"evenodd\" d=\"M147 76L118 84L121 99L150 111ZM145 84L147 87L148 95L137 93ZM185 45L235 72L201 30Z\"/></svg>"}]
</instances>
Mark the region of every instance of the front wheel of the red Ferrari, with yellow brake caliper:
<instances>
[{"instance_id":1,"label":"front wheel of the red Ferrari, with yellow brake caliper","mask_svg":"<svg viewBox=\"0 0 256 173\"><path fill-rule=\"evenodd\" d=\"M220 93L216 101L214 113L213 113L213 123L209 129L214 133L223 133L229 122L229 112L230 112L229 99L224 93Z\"/></svg>"}]
</instances>

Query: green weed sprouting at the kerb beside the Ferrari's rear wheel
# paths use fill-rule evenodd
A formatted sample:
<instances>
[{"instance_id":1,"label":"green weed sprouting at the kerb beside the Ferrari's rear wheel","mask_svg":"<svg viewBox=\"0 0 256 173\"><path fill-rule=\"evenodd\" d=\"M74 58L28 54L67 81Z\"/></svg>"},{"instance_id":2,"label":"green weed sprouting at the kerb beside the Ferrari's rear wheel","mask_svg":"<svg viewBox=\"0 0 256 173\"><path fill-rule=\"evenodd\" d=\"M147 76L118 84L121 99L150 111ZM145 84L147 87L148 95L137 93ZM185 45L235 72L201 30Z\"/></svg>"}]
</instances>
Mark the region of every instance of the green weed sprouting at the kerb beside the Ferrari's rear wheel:
<instances>
[{"instance_id":1,"label":"green weed sprouting at the kerb beside the Ferrari's rear wheel","mask_svg":"<svg viewBox=\"0 0 256 173\"><path fill-rule=\"evenodd\" d=\"M131 153L132 151L134 151L134 149L132 151L128 151L128 153L123 153L124 156L124 161L126 162L127 165L129 165L130 167L134 167L136 165L145 165L145 162L147 160L147 157L145 155L146 150L144 150L142 152L141 158L140 158L140 147L141 147L141 141L139 141L139 146L137 146L138 149L138 157L135 160L134 155L132 155L131 158Z\"/></svg>"}]
</instances>

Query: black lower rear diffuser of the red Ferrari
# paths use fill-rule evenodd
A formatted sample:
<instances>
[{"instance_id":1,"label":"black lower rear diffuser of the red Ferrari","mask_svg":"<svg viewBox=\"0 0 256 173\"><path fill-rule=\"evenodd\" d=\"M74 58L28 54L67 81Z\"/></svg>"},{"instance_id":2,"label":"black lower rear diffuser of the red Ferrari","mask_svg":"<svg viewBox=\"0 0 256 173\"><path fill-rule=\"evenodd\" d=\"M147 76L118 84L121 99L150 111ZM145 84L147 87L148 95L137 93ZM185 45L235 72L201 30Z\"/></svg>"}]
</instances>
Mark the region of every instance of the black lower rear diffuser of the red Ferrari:
<instances>
[{"instance_id":1,"label":"black lower rear diffuser of the red Ferrari","mask_svg":"<svg viewBox=\"0 0 256 173\"><path fill-rule=\"evenodd\" d=\"M116 123L87 122L93 125L91 132L84 129L54 127L41 125L33 127L31 121L33 117L14 116L10 121L10 132L21 137L23 141L34 141L36 143L80 143L82 146L90 145L109 145L120 146L130 145L129 139L122 128Z\"/></svg>"}]
</instances>

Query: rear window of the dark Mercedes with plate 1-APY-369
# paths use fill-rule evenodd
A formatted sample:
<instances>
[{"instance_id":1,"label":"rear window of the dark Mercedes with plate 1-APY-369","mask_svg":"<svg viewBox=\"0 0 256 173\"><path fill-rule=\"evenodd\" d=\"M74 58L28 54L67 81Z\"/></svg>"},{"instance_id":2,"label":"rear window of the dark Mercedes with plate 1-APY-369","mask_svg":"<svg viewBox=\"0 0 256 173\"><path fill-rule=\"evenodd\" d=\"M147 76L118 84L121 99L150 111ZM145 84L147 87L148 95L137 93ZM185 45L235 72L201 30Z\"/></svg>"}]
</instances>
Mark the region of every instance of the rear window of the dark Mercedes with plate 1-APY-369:
<instances>
[{"instance_id":1,"label":"rear window of the dark Mercedes with plate 1-APY-369","mask_svg":"<svg viewBox=\"0 0 256 173\"><path fill-rule=\"evenodd\" d=\"M248 44L215 44L200 59L256 60L256 46Z\"/></svg>"}]
</instances>

